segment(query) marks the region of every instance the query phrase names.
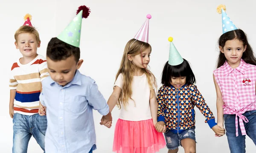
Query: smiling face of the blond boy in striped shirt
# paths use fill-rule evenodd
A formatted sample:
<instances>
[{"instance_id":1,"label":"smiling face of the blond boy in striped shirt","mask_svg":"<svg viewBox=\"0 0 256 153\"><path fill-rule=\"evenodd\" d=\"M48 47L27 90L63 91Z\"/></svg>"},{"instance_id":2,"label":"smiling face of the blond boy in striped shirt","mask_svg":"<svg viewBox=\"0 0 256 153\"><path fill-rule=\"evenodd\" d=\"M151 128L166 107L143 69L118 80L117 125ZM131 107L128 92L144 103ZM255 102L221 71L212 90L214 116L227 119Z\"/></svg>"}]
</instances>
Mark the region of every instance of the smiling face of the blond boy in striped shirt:
<instances>
[{"instance_id":1,"label":"smiling face of the blond boy in striped shirt","mask_svg":"<svg viewBox=\"0 0 256 153\"><path fill-rule=\"evenodd\" d=\"M37 48L41 42L37 42L35 35L31 33L21 33L15 42L16 49L20 50L23 57L31 57L37 54Z\"/></svg>"}]
</instances>

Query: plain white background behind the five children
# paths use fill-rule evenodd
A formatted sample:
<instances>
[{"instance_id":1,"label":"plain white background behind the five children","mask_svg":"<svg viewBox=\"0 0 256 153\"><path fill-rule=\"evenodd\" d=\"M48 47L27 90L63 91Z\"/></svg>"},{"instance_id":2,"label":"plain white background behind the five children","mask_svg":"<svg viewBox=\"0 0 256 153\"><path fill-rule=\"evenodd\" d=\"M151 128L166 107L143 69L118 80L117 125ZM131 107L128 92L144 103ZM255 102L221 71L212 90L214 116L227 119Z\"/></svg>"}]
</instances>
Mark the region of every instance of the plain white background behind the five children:
<instances>
[{"instance_id":1,"label":"plain white background behind the five children","mask_svg":"<svg viewBox=\"0 0 256 153\"><path fill-rule=\"evenodd\" d=\"M115 75L119 69L125 44L134 37L150 13L149 43L152 46L150 67L157 78L158 87L164 63L169 56L168 37L191 63L197 86L214 115L216 94L212 81L218 57L217 41L222 34L219 4L227 6L227 14L238 28L248 34L253 48L256 44L256 14L253 0L1 0L0 48L1 65L1 126L0 152L12 151L12 119L9 117L9 72L21 54L15 49L15 31L23 25L23 16L32 14L32 24L38 29L41 47L38 53L46 55L47 43L56 37L75 17L80 5L90 7L91 14L83 19L81 30L81 73L92 77L106 99L112 93ZM216 138L204 123L204 116L196 109L197 153L228 153L227 137ZM94 111L97 147L95 153L111 153L113 133L119 110L112 112L113 127L100 126L98 112ZM255 153L253 141L246 139L247 153ZM253 151L254 150L254 151ZM34 138L29 142L28 153L42 153ZM160 153L167 153L161 149ZM179 153L184 153L180 147Z\"/></svg>"}]
</instances>

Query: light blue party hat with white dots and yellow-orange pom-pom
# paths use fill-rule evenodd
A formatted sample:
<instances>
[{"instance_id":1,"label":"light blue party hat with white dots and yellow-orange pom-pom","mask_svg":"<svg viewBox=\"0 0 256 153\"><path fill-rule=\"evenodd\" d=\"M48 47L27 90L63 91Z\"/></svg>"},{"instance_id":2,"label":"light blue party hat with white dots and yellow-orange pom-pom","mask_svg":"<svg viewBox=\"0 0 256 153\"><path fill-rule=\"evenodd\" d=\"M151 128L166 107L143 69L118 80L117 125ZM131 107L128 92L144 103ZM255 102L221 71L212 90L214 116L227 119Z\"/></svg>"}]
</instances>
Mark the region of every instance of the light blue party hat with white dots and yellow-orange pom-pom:
<instances>
[{"instance_id":1,"label":"light blue party hat with white dots and yellow-orange pom-pom","mask_svg":"<svg viewBox=\"0 0 256 153\"><path fill-rule=\"evenodd\" d=\"M219 14L222 14L222 32L223 33L230 32L232 30L237 29L234 23L232 22L232 20L230 20L230 17L227 16L227 13L225 11L226 11L226 6L219 5L217 7L217 12Z\"/></svg>"}]
</instances>

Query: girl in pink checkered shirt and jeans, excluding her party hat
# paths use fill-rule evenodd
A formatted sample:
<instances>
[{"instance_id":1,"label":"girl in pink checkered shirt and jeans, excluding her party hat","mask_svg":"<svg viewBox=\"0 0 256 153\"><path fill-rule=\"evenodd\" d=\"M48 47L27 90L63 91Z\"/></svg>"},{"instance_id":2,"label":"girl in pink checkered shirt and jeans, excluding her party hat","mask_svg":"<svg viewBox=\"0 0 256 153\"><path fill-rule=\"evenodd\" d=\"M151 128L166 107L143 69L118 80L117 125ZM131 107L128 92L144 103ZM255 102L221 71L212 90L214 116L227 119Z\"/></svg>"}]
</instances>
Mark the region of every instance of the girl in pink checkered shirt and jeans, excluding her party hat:
<instances>
[{"instance_id":1,"label":"girl in pink checkered shirt and jeans, excluding her party hat","mask_svg":"<svg viewBox=\"0 0 256 153\"><path fill-rule=\"evenodd\" d=\"M256 144L256 58L241 29L221 35L219 49L213 72L217 124L224 128L225 121L230 152L245 153L246 134Z\"/></svg>"}]
</instances>

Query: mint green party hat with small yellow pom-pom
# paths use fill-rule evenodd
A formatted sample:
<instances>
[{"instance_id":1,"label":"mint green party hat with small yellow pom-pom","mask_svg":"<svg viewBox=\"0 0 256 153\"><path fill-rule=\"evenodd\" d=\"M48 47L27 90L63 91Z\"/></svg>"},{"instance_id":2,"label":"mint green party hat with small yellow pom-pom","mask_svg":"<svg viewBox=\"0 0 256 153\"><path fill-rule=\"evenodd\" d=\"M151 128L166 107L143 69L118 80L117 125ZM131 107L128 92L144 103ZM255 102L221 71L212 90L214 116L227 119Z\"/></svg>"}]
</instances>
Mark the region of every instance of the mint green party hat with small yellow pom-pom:
<instances>
[{"instance_id":1,"label":"mint green party hat with small yellow pom-pom","mask_svg":"<svg viewBox=\"0 0 256 153\"><path fill-rule=\"evenodd\" d=\"M175 66L180 65L184 61L183 58L180 56L180 53L177 51L176 47L172 43L173 38L169 37L168 40L170 41L170 51L169 51L169 61L168 64Z\"/></svg>"}]
</instances>

